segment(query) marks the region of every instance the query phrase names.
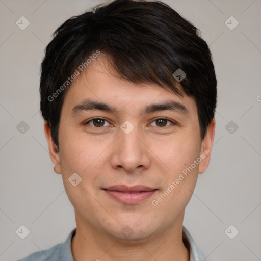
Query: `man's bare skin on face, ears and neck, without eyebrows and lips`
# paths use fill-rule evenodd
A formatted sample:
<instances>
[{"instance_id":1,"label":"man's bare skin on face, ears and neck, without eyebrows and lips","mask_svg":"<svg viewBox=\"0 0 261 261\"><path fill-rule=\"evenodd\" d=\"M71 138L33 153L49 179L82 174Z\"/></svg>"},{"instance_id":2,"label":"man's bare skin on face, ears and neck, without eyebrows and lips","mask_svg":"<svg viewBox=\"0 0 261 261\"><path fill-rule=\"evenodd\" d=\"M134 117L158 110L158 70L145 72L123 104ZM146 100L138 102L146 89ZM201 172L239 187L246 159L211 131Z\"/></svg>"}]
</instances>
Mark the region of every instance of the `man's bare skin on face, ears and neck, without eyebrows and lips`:
<instances>
[{"instance_id":1,"label":"man's bare skin on face, ears and neck, without eyebrows and lips","mask_svg":"<svg viewBox=\"0 0 261 261\"><path fill-rule=\"evenodd\" d=\"M178 97L154 84L134 84L111 74L106 56L99 56L84 74L74 80L65 95L57 150L47 122L44 131L54 171L62 174L64 187L75 209L76 234L71 249L75 261L82 260L179 260L190 253L182 242L185 207L194 191L198 174L211 158L215 119L200 139L196 102L193 97ZM84 98L102 101L118 113L99 110L72 115ZM159 111L141 114L151 103L181 102L189 114ZM101 117L105 121L87 121ZM155 120L156 117L170 121ZM134 126L125 134L120 126L128 120ZM172 123L176 122L176 124ZM182 170L204 155L180 183L157 206L157 199ZM82 181L72 186L72 173ZM102 188L113 185L143 185L158 189L137 204L124 204ZM128 237L122 229L128 225Z\"/></svg>"}]
</instances>

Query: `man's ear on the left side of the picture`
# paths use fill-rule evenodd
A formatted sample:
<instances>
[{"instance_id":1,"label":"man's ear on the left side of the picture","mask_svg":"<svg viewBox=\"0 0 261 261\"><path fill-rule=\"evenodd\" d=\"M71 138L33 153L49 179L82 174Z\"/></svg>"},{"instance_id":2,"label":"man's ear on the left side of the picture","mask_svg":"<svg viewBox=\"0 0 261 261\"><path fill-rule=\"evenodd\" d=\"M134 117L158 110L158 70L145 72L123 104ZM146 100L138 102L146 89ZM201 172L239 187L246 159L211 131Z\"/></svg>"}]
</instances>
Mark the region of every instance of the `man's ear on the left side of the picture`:
<instances>
[{"instance_id":1,"label":"man's ear on the left side of the picture","mask_svg":"<svg viewBox=\"0 0 261 261\"><path fill-rule=\"evenodd\" d=\"M54 143L53 137L51 137L51 129L46 120L44 121L44 133L45 133L46 140L48 142L49 155L51 161L54 163L54 171L57 174L61 174L62 172L61 172L61 165L60 165L60 154L56 144Z\"/></svg>"}]
</instances>

